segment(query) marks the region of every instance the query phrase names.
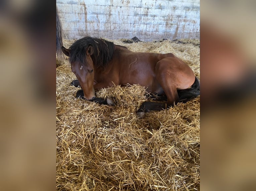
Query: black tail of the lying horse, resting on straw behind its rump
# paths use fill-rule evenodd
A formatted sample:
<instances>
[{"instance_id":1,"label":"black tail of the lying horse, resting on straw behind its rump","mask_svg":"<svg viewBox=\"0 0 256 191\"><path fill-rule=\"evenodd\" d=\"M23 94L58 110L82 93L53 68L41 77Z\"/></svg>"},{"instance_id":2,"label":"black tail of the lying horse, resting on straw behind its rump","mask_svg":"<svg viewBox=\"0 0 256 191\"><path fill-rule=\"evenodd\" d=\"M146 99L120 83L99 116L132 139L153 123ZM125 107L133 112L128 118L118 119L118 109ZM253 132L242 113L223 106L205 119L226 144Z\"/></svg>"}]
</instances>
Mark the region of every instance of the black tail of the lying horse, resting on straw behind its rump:
<instances>
[{"instance_id":1,"label":"black tail of the lying horse, resting on straw behind its rump","mask_svg":"<svg viewBox=\"0 0 256 191\"><path fill-rule=\"evenodd\" d=\"M187 102L188 100L197 97L200 95L200 82L198 78L195 76L195 82L194 84L185 90L177 90L179 95L179 102Z\"/></svg>"}]
</instances>

